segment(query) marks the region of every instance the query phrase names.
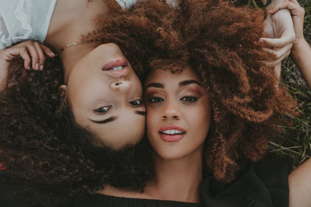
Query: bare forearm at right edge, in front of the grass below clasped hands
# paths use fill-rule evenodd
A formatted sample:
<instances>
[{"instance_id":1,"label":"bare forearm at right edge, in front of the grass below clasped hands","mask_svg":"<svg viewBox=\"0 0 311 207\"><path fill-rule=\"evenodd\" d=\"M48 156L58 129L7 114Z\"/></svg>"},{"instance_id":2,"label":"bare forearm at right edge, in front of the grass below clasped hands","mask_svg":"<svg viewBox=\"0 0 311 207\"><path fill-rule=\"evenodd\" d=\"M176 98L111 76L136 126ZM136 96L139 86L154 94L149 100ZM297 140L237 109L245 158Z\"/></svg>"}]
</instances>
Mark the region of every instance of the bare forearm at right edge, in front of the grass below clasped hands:
<instances>
[{"instance_id":1,"label":"bare forearm at right edge, in front of the grass below clasped hands","mask_svg":"<svg viewBox=\"0 0 311 207\"><path fill-rule=\"evenodd\" d=\"M290 57L311 90L311 48L305 39L293 45Z\"/></svg>"}]
</instances>

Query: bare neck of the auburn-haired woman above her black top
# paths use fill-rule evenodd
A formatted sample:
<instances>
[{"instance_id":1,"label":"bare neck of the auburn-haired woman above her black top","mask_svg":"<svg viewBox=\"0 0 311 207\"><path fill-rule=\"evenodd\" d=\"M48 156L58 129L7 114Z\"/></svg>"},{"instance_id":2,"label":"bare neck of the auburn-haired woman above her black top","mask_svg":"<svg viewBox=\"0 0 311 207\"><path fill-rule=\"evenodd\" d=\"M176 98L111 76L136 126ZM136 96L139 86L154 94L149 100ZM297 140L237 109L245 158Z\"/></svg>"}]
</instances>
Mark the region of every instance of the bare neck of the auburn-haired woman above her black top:
<instances>
[{"instance_id":1,"label":"bare neck of the auburn-haired woman above her black top","mask_svg":"<svg viewBox=\"0 0 311 207\"><path fill-rule=\"evenodd\" d=\"M156 180L147 184L153 199L201 203L203 146L179 159L163 159L154 153Z\"/></svg>"}]
</instances>

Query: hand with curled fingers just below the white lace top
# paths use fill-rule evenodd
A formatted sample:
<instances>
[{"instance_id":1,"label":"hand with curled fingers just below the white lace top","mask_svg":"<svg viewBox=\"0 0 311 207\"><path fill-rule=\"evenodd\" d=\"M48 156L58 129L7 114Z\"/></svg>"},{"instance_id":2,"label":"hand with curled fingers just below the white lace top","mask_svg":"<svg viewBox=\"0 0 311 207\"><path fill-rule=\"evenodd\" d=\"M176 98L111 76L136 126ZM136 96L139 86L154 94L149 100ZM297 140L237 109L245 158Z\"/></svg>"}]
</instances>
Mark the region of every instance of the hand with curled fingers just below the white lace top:
<instances>
[{"instance_id":1,"label":"hand with curled fingers just below the white lace top","mask_svg":"<svg viewBox=\"0 0 311 207\"><path fill-rule=\"evenodd\" d=\"M7 77L25 68L43 70L46 57L55 57L49 47L38 42L26 41L0 51L0 91L7 83ZM30 67L31 65L31 67Z\"/></svg>"}]
</instances>

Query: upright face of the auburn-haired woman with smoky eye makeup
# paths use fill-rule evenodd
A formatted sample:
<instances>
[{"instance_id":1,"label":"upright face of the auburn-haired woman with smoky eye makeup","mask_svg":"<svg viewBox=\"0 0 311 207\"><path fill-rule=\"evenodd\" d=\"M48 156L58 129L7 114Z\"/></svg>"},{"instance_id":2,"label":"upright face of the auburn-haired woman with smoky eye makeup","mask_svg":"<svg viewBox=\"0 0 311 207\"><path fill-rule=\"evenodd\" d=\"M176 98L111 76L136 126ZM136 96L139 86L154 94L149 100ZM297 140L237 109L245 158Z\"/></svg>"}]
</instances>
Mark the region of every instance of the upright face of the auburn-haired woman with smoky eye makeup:
<instances>
[{"instance_id":1,"label":"upright face of the auburn-haired woman with smoky eye makeup","mask_svg":"<svg viewBox=\"0 0 311 207\"><path fill-rule=\"evenodd\" d=\"M203 149L211 106L201 78L190 66L175 74L161 69L150 72L144 102L147 136L161 157L178 159Z\"/></svg>"}]
</instances>

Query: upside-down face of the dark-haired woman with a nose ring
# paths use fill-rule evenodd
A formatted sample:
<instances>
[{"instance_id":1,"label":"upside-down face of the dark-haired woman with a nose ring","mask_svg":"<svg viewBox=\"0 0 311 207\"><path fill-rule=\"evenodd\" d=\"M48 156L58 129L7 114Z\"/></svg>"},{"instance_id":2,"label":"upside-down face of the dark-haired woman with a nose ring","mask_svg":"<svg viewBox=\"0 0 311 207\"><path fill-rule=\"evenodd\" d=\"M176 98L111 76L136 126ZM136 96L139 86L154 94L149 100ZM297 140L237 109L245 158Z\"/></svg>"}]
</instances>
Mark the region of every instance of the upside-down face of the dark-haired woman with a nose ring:
<instances>
[{"instance_id":1,"label":"upside-down face of the dark-haired woman with a nose ring","mask_svg":"<svg viewBox=\"0 0 311 207\"><path fill-rule=\"evenodd\" d=\"M115 148L137 143L145 131L142 85L114 43L81 58L62 86L78 124Z\"/></svg>"}]
</instances>

